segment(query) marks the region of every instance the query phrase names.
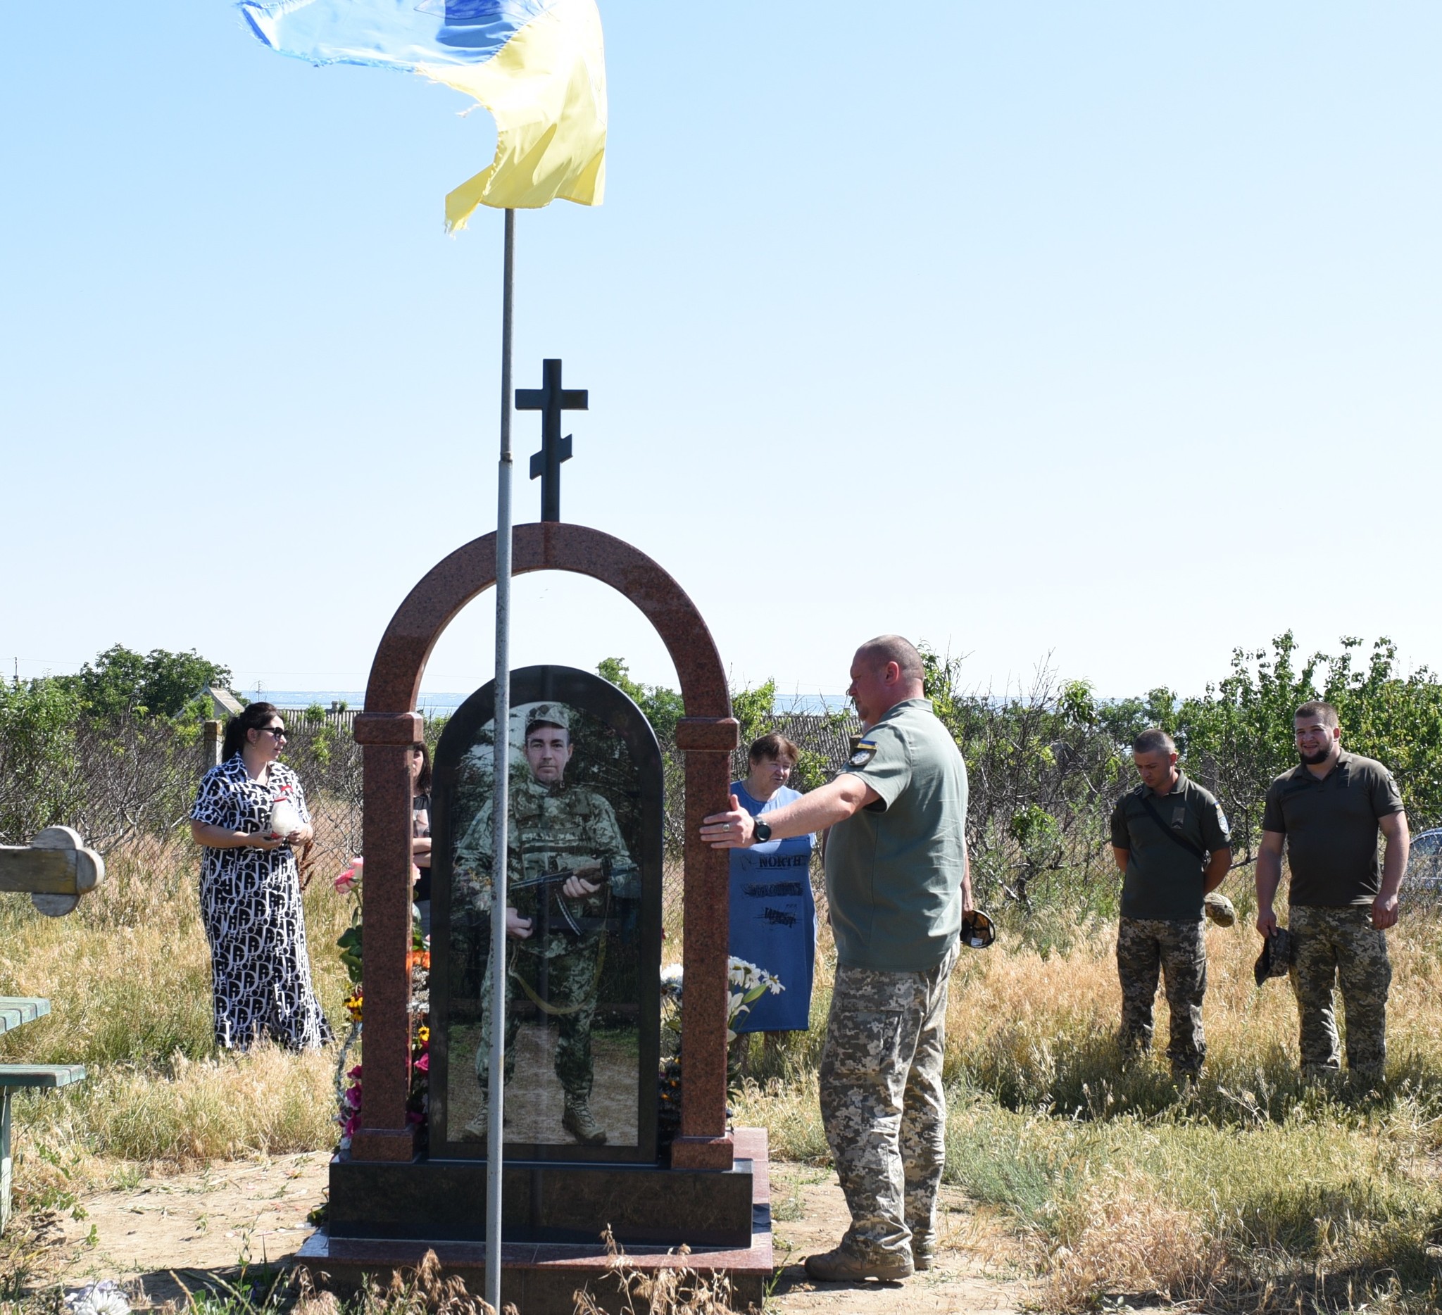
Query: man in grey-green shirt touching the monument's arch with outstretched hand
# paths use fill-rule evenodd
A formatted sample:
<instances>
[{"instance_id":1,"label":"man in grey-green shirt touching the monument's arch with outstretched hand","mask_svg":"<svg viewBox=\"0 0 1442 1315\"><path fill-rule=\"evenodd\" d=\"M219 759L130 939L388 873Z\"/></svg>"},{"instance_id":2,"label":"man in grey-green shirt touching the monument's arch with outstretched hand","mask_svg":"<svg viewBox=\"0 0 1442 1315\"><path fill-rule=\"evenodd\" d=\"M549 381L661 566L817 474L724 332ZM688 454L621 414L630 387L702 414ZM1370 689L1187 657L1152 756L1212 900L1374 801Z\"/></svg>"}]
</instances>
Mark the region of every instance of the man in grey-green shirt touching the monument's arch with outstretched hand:
<instances>
[{"instance_id":1,"label":"man in grey-green shirt touching the monument's arch with outstretched hand","mask_svg":"<svg viewBox=\"0 0 1442 1315\"><path fill-rule=\"evenodd\" d=\"M966 764L924 698L923 675L920 653L898 634L864 643L846 691L865 730L849 770L764 819L733 799L701 828L718 849L832 828L836 983L820 1110L851 1227L835 1250L806 1257L806 1273L822 1282L904 1279L936 1252L946 985L972 887Z\"/></svg>"}]
</instances>

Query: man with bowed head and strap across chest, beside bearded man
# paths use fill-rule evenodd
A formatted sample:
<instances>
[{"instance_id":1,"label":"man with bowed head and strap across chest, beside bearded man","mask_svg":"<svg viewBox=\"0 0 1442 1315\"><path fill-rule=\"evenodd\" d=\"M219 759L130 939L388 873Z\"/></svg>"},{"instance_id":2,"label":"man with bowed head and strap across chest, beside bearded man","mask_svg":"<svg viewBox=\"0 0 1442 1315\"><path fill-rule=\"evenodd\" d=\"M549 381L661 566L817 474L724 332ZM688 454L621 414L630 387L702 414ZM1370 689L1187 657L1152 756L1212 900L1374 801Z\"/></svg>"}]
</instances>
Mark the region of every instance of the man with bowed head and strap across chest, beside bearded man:
<instances>
[{"instance_id":1,"label":"man with bowed head and strap across chest, beside bearded man","mask_svg":"<svg viewBox=\"0 0 1442 1315\"><path fill-rule=\"evenodd\" d=\"M1116 970L1122 980L1123 1051L1151 1050L1156 978L1167 983L1172 1077L1195 1079L1207 1055L1203 908L1231 867L1231 832L1211 792L1182 776L1165 731L1132 741L1142 783L1112 810L1112 854L1122 869Z\"/></svg>"}]
</instances>

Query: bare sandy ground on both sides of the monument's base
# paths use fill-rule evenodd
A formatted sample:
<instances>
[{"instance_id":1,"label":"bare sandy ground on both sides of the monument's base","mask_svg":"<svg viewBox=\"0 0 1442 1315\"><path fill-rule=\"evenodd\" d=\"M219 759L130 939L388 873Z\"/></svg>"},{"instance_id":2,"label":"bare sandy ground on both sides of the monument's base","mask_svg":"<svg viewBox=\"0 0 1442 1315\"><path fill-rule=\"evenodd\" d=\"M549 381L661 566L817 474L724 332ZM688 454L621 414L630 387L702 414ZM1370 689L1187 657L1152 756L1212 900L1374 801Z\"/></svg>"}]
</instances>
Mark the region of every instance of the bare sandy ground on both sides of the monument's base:
<instances>
[{"instance_id":1,"label":"bare sandy ground on both sides of the monument's base","mask_svg":"<svg viewBox=\"0 0 1442 1315\"><path fill-rule=\"evenodd\" d=\"M323 1200L327 1159L314 1154L218 1165L88 1197L82 1218L49 1223L30 1286L74 1289L108 1278L162 1303L182 1298L182 1283L234 1282L242 1260L283 1262L310 1233L306 1216ZM959 1192L943 1190L934 1269L904 1283L857 1285L813 1285L802 1269L806 1254L828 1250L846 1227L836 1175L774 1164L771 1194L779 1275L767 1311L774 1315L1011 1315L1025 1301L1015 1247Z\"/></svg>"}]
</instances>

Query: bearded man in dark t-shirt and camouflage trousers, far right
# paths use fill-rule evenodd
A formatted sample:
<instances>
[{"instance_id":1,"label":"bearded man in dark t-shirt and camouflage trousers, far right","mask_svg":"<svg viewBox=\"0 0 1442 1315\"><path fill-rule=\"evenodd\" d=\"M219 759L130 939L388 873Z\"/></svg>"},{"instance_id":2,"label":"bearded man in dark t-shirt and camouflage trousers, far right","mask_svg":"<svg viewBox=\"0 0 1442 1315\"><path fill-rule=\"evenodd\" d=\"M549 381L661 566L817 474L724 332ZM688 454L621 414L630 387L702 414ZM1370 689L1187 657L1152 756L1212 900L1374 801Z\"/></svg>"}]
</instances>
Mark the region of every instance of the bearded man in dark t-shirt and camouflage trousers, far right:
<instances>
[{"instance_id":1,"label":"bearded man in dark t-shirt and camouflage trousers, far right","mask_svg":"<svg viewBox=\"0 0 1442 1315\"><path fill-rule=\"evenodd\" d=\"M1347 1068L1381 1081L1387 1061L1387 927L1397 921L1397 891L1407 869L1407 815L1381 763L1343 750L1331 704L1296 709L1302 761L1266 792L1257 854L1257 931L1276 930L1272 901L1291 869L1292 989L1302 1025L1302 1071L1338 1073L1332 988L1341 978L1347 1011ZM1377 832L1386 854L1377 862Z\"/></svg>"}]
</instances>

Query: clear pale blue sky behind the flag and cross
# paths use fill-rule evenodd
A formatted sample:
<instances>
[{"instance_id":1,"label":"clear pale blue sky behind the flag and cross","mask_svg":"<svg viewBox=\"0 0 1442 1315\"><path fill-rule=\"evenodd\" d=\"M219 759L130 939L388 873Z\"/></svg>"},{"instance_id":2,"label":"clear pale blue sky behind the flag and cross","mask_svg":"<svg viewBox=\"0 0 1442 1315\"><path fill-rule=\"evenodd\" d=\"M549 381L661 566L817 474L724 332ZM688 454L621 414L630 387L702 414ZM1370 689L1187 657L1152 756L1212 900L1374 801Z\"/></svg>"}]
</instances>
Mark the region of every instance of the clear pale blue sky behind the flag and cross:
<instances>
[{"instance_id":1,"label":"clear pale blue sky behind the flag and cross","mask_svg":"<svg viewBox=\"0 0 1442 1315\"><path fill-rule=\"evenodd\" d=\"M603 0L606 205L518 225L516 384L591 389L562 515L803 694L881 630L994 688L1193 692L1286 627L1442 666L1442 10L894 13ZM487 117L209 0L6 17L6 672L362 686L495 525L500 215L441 223ZM516 665L611 653L672 678L619 595L518 581Z\"/></svg>"}]
</instances>

